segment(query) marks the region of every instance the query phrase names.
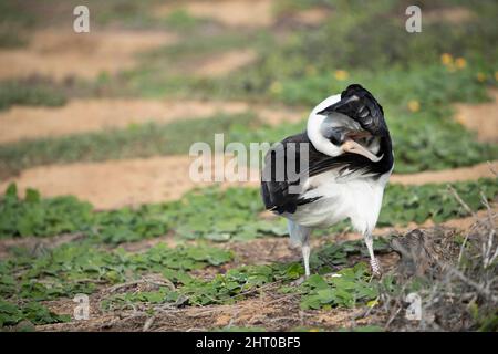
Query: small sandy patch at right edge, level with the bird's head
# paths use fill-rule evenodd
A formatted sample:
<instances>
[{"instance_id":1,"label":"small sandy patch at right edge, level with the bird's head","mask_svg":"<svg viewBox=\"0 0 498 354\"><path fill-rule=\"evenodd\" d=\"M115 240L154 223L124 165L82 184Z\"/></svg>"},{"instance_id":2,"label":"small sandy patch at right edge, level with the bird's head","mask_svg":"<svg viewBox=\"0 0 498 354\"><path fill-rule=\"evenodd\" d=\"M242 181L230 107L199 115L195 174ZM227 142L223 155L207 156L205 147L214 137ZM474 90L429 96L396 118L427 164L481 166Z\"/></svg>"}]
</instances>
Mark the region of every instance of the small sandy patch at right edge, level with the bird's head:
<instances>
[{"instance_id":1,"label":"small sandy patch at right edge, level with the bird's head","mask_svg":"<svg viewBox=\"0 0 498 354\"><path fill-rule=\"evenodd\" d=\"M477 133L480 142L498 143L498 90L491 90L494 102L456 104L455 119Z\"/></svg>"}]
</instances>

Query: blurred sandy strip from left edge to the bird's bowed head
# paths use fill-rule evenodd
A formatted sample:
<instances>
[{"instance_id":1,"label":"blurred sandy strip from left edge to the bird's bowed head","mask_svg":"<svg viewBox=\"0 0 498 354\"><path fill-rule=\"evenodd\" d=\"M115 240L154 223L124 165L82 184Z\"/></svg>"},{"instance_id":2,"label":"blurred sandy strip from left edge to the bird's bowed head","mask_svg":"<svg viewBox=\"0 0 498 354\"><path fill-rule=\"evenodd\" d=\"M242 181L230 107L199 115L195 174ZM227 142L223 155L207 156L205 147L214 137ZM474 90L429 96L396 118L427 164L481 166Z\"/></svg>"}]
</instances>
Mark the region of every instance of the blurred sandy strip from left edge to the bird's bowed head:
<instances>
[{"instance_id":1,"label":"blurred sandy strip from left edge to the bird's bowed head","mask_svg":"<svg viewBox=\"0 0 498 354\"><path fill-rule=\"evenodd\" d=\"M299 122L304 110L262 107L246 102L154 101L139 98L73 100L62 107L13 106L0 112L0 144L20 139L126 127L146 122L167 123L209 117L217 113L253 111L266 123Z\"/></svg>"}]
</instances>

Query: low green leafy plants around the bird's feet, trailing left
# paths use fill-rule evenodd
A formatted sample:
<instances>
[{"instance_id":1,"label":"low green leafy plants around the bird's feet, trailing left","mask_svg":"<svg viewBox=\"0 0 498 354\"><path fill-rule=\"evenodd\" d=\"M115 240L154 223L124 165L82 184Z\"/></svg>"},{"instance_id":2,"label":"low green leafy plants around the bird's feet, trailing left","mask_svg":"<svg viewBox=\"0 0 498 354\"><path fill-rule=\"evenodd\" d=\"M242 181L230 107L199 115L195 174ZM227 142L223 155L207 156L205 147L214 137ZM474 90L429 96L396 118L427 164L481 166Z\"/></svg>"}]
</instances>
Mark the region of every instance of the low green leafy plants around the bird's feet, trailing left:
<instances>
[{"instance_id":1,"label":"low green leafy plants around the bird's feet, trailing left","mask_svg":"<svg viewBox=\"0 0 498 354\"><path fill-rule=\"evenodd\" d=\"M385 249L385 241L378 241L380 249ZM331 251L331 247L334 251ZM157 291L142 293L121 293L107 298L104 309L125 306L129 302L148 305L180 303L183 305L204 306L209 304L231 304L258 293L259 289L272 285L282 293L301 295L303 309L330 306L351 308L375 299L377 283L369 282L370 271L364 263L347 268L347 258L335 254L360 254L364 246L356 241L346 241L322 248L319 254L331 256L331 261L341 270L333 275L311 275L303 284L292 285L292 281L303 275L301 263L270 263L263 266L242 266L216 274L210 280L190 277L186 273L164 272L175 283L175 289L162 287ZM329 262L312 260L312 267L319 273L330 271Z\"/></svg>"}]
</instances>

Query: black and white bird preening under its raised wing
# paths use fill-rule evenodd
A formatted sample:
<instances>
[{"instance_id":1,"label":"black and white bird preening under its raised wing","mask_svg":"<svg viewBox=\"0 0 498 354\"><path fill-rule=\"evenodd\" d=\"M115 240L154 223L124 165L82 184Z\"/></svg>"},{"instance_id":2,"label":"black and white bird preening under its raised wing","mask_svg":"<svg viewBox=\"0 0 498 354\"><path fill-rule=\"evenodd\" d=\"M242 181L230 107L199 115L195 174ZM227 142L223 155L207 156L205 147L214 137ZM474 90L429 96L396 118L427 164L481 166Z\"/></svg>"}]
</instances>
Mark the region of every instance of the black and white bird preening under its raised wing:
<instances>
[{"instance_id":1,"label":"black and white bird preening under its raised wing","mask_svg":"<svg viewBox=\"0 0 498 354\"><path fill-rule=\"evenodd\" d=\"M312 229L345 219L363 235L372 271L380 274L372 232L394 155L384 111L367 90L353 84L321 102L305 132L273 146L264 164L264 206L287 218L291 242L302 248L307 277Z\"/></svg>"}]
</instances>

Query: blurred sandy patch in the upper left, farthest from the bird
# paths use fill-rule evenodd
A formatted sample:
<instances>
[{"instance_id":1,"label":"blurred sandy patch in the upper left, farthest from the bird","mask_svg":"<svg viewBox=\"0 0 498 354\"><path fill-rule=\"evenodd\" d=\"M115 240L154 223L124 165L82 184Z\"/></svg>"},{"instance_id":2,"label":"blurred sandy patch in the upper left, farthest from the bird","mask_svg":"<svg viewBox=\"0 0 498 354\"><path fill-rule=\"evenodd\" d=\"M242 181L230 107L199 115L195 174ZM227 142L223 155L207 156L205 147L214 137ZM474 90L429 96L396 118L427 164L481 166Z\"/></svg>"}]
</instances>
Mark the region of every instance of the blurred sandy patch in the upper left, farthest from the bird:
<instances>
[{"instance_id":1,"label":"blurred sandy patch in the upper left, farthest from the bird","mask_svg":"<svg viewBox=\"0 0 498 354\"><path fill-rule=\"evenodd\" d=\"M95 79L102 72L128 69L135 54L175 41L176 35L166 32L41 30L27 48L0 50L0 80L34 74Z\"/></svg>"}]
</instances>

